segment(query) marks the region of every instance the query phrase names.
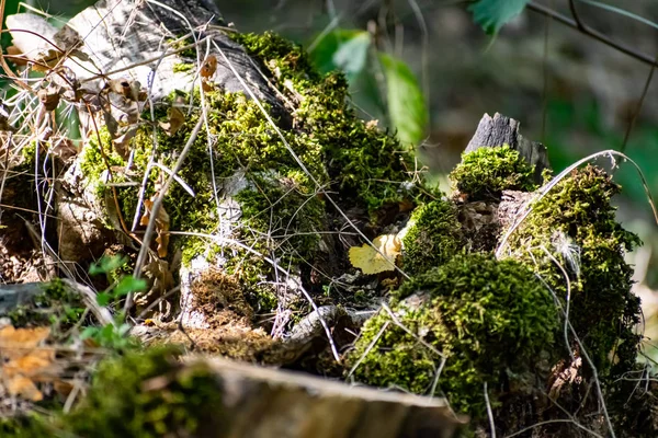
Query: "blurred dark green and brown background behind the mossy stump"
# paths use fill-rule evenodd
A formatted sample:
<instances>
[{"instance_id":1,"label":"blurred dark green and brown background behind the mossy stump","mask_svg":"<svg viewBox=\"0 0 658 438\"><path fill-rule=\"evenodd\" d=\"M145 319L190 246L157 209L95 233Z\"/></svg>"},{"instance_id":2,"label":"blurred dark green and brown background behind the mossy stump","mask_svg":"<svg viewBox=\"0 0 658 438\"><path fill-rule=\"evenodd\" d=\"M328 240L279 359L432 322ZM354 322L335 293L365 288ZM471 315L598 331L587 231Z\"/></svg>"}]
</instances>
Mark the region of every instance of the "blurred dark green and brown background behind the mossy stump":
<instances>
[{"instance_id":1,"label":"blurred dark green and brown background behind the mossy stump","mask_svg":"<svg viewBox=\"0 0 658 438\"><path fill-rule=\"evenodd\" d=\"M60 19L56 25L92 3L27 2ZM549 20L537 8L526 8L499 32L488 27L487 33L481 22L474 22L474 1L216 3L225 22L239 31L274 31L304 45L321 70L343 69L361 116L416 142L432 177L443 181L483 114L499 112L520 120L525 137L547 146L556 173L591 153L615 149L638 163L658 196L658 74L648 81L648 62ZM574 20L568 0L533 4ZM580 21L605 37L649 59L658 56L658 1L577 0L574 5ZM7 1L5 15L18 10L16 1ZM3 48L8 44L3 34ZM623 186L619 219L645 242L629 261L644 302L646 354L658 360L658 227L637 171L617 163L614 177Z\"/></svg>"}]
</instances>

